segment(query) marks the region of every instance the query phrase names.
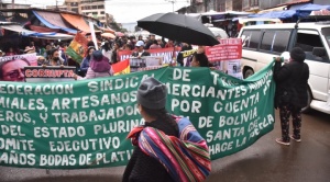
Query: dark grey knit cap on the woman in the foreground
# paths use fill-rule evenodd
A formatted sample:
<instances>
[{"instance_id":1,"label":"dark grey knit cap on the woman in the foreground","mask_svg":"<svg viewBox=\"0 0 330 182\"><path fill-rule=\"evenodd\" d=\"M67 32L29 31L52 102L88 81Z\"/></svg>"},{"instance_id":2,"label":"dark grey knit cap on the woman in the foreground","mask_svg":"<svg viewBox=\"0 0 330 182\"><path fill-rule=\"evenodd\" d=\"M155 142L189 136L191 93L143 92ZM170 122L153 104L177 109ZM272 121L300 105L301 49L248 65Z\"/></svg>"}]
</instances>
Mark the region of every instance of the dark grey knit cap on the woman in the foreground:
<instances>
[{"instance_id":1,"label":"dark grey knit cap on the woman in the foreground","mask_svg":"<svg viewBox=\"0 0 330 182\"><path fill-rule=\"evenodd\" d=\"M144 79L138 89L138 103L147 109L164 109L166 86L152 77Z\"/></svg>"}]
</instances>

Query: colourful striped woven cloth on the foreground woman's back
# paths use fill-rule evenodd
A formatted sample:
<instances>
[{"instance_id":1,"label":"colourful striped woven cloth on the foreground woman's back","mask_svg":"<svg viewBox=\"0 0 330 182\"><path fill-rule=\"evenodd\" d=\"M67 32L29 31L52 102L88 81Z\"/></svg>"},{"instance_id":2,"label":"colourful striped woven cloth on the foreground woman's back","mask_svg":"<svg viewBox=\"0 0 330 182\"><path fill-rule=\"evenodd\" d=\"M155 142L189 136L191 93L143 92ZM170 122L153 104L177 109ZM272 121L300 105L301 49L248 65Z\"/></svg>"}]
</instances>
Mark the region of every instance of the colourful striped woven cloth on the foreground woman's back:
<instances>
[{"instance_id":1,"label":"colourful striped woven cloth on the foreground woman's back","mask_svg":"<svg viewBox=\"0 0 330 182\"><path fill-rule=\"evenodd\" d=\"M211 171L206 140L189 120L174 116L179 137L168 136L153 127L136 127L129 134L133 145L157 159L176 181L204 181Z\"/></svg>"}]
</instances>

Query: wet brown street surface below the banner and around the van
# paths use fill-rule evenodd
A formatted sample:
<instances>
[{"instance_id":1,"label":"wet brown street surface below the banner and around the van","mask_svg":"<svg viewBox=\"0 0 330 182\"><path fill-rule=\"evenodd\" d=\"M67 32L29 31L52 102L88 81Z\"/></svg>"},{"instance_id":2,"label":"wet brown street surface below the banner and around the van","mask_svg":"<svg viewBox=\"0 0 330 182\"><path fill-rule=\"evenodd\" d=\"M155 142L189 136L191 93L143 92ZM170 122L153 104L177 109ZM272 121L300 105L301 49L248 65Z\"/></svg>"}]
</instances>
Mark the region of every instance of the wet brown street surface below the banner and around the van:
<instances>
[{"instance_id":1,"label":"wet brown street surface below the banner and around the van","mask_svg":"<svg viewBox=\"0 0 330 182\"><path fill-rule=\"evenodd\" d=\"M329 181L330 115L316 111L304 115L301 143L292 140L290 146L282 146L275 143L279 136L276 112L274 130L249 148L212 161L207 182ZM121 181L123 170L123 167L50 171L0 167L0 182L117 182Z\"/></svg>"}]
</instances>

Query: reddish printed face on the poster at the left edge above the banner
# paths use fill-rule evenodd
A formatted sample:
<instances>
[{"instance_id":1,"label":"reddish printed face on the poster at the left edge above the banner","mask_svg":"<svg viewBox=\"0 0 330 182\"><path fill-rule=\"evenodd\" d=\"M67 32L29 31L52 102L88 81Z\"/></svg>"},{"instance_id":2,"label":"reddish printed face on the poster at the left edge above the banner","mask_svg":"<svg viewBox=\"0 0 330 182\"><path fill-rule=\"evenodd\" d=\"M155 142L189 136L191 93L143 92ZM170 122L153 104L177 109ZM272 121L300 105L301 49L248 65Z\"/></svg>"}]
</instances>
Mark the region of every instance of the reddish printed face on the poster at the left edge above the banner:
<instances>
[{"instance_id":1,"label":"reddish printed face on the poster at the left edge above the banner","mask_svg":"<svg viewBox=\"0 0 330 182\"><path fill-rule=\"evenodd\" d=\"M0 62L0 81L24 82L24 67L31 66L25 58Z\"/></svg>"}]
</instances>

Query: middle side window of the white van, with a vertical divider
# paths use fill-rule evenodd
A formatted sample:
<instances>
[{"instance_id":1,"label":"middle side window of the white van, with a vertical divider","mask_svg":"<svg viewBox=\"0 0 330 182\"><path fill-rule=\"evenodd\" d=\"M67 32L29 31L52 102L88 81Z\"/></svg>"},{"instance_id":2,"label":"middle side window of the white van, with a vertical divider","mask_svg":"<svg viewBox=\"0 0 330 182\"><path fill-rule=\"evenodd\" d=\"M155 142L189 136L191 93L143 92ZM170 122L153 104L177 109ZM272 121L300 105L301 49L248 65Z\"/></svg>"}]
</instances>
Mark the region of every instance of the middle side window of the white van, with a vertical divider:
<instances>
[{"instance_id":1,"label":"middle side window of the white van, with a vertical divider","mask_svg":"<svg viewBox=\"0 0 330 182\"><path fill-rule=\"evenodd\" d=\"M266 31L260 49L283 53L287 49L290 31Z\"/></svg>"}]
</instances>

